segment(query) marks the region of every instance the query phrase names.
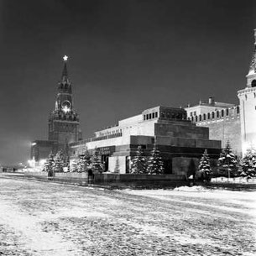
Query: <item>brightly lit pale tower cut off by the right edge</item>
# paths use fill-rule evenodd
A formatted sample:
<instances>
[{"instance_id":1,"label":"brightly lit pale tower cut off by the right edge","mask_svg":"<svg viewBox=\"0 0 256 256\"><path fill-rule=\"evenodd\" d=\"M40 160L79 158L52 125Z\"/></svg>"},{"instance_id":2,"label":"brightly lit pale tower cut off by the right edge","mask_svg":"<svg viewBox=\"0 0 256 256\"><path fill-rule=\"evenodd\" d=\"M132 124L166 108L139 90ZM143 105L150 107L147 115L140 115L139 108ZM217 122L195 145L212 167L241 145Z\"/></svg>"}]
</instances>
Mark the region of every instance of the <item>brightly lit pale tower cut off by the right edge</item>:
<instances>
[{"instance_id":1,"label":"brightly lit pale tower cut off by the right edge","mask_svg":"<svg viewBox=\"0 0 256 256\"><path fill-rule=\"evenodd\" d=\"M247 86L238 91L243 154L249 147L256 147L256 29L254 29L253 57L246 78Z\"/></svg>"}]
</instances>

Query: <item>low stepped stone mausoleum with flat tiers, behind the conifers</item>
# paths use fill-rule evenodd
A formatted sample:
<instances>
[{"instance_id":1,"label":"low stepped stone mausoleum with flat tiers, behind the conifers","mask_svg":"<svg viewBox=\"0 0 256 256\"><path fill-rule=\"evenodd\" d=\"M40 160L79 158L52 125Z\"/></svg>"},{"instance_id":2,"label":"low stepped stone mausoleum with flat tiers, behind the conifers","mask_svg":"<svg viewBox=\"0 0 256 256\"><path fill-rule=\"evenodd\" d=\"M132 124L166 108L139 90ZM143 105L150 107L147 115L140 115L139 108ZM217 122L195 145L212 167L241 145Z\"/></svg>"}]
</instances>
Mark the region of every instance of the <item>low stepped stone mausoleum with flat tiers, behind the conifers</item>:
<instances>
[{"instance_id":1,"label":"low stepped stone mausoleum with flat tiers, behind the conifers","mask_svg":"<svg viewBox=\"0 0 256 256\"><path fill-rule=\"evenodd\" d=\"M118 125L95 133L88 138L71 143L71 156L97 148L102 155L105 170L128 173L138 145L150 155L154 144L164 159L166 174L187 174L196 169L204 149L212 158L212 165L221 151L221 142L209 140L208 128L196 127L186 118L182 108L152 107Z\"/></svg>"}]
</instances>

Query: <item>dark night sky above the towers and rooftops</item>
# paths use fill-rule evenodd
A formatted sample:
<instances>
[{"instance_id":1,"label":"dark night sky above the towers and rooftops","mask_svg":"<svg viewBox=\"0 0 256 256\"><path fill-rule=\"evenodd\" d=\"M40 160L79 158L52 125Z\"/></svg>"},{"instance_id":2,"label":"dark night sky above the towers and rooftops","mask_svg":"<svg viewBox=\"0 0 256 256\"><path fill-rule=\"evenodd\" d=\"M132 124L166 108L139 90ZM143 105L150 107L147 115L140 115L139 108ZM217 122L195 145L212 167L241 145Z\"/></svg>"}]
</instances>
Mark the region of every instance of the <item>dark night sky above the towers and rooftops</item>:
<instances>
[{"instance_id":1,"label":"dark night sky above the towers and rooftops","mask_svg":"<svg viewBox=\"0 0 256 256\"><path fill-rule=\"evenodd\" d=\"M158 105L237 103L256 1L0 0L0 164L26 162L69 55L83 137Z\"/></svg>"}]
</instances>

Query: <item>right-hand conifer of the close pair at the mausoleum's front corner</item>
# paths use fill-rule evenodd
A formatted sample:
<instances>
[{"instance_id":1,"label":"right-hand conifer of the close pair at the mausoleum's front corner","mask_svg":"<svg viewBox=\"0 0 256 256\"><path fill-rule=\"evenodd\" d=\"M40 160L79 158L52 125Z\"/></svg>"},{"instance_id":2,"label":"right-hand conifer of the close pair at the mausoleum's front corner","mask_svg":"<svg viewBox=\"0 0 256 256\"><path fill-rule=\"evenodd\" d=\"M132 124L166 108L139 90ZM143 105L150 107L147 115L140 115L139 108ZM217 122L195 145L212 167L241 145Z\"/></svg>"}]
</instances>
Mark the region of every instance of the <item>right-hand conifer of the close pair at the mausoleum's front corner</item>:
<instances>
[{"instance_id":1,"label":"right-hand conifer of the close pair at the mausoleum's front corner","mask_svg":"<svg viewBox=\"0 0 256 256\"><path fill-rule=\"evenodd\" d=\"M160 155L159 149L154 145L151 156L148 161L147 172L149 175L159 175L164 173L164 163Z\"/></svg>"}]
</instances>

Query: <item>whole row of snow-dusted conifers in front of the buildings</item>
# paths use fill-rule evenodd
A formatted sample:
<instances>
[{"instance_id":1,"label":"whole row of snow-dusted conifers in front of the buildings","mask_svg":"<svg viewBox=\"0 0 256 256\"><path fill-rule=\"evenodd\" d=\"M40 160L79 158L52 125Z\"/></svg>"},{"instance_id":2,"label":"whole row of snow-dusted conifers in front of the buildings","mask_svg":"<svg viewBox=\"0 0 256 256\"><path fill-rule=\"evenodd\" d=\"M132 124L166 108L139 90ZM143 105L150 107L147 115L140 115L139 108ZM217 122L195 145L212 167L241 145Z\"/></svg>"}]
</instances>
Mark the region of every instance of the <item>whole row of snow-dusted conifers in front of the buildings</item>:
<instances>
[{"instance_id":1,"label":"whole row of snow-dusted conifers in front of the buildings","mask_svg":"<svg viewBox=\"0 0 256 256\"><path fill-rule=\"evenodd\" d=\"M117 164L118 166L118 164ZM50 173L65 171L77 171L85 172L92 170L93 173L102 173L104 171L104 164L102 164L101 154L96 148L94 154L89 154L86 149L83 154L79 154L73 159L70 166L70 159L65 156L62 150L57 154L50 154L49 159L44 164L44 170ZM118 173L118 167L115 168L115 172ZM149 174L159 175L164 173L164 163L161 158L159 149L154 145L151 151L150 157L147 158L144 155L144 150L139 145L136 155L131 162L132 174ZM213 175L211 163L207 150L201 157L196 176L201 177L204 180L210 179ZM222 153L218 159L217 173L214 175L225 175L227 177L242 176L248 179L256 176L256 150L248 149L247 154L238 163L238 158L232 153L230 144L227 143L225 149L222 149Z\"/></svg>"}]
</instances>

